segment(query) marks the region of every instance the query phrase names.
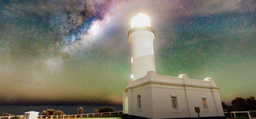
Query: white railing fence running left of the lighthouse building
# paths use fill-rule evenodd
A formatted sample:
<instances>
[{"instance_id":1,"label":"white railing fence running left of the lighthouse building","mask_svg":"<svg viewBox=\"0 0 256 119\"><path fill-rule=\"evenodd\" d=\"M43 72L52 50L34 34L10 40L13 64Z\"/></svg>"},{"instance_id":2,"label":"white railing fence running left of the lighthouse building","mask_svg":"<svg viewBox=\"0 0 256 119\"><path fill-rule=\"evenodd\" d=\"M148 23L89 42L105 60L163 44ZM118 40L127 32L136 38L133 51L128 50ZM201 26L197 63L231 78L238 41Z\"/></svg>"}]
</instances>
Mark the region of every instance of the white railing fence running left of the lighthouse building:
<instances>
[{"instance_id":1,"label":"white railing fence running left of the lighthouse building","mask_svg":"<svg viewBox=\"0 0 256 119\"><path fill-rule=\"evenodd\" d=\"M49 119L51 118L82 118L82 117L94 117L94 116L103 116L103 115L121 115L123 112L122 111L116 111L116 112L104 112L104 113L86 113L86 114L82 114L82 115L49 115ZM15 117L15 116L4 116L4 117L0 117L1 118L8 118L8 119L11 119L12 117ZM20 117L20 118L24 118L24 115L17 115L17 117ZM39 119L42 119L42 118L45 118L45 115L39 115L38 116ZM46 117L47 119L47 117Z\"/></svg>"}]
</instances>

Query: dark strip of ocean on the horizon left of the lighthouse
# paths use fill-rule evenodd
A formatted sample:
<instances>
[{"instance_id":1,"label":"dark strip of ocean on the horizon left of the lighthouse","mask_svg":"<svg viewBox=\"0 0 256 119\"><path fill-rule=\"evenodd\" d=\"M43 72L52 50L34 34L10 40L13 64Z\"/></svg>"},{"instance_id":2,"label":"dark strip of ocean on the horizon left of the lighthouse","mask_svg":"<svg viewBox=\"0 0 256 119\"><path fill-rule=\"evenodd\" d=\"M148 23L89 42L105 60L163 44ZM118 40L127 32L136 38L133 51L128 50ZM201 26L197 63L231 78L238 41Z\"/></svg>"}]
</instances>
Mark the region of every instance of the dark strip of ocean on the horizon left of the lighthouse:
<instances>
[{"instance_id":1,"label":"dark strip of ocean on the horizon left of the lighthouse","mask_svg":"<svg viewBox=\"0 0 256 119\"><path fill-rule=\"evenodd\" d=\"M50 106L50 105L42 105L42 106L26 106L26 105L3 105L0 106L0 114L1 113L11 113L13 115L24 115L24 112L28 111L37 111L41 112L46 109L54 109L54 110L61 110L65 114L75 115L77 112L77 108L82 107L85 113L94 113L94 109L98 109L99 107L105 106ZM114 108L115 111L122 111L122 106L108 106Z\"/></svg>"}]
</instances>

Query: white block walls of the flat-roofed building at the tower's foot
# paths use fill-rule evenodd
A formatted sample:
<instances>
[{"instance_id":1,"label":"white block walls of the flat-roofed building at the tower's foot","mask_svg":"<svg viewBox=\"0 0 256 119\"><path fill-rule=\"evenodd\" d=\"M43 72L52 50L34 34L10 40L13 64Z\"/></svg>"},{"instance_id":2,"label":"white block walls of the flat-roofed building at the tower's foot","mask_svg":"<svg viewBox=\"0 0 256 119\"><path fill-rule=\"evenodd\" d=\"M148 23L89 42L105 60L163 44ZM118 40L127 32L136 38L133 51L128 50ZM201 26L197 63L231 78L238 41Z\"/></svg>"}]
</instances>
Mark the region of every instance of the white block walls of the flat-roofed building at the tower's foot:
<instances>
[{"instance_id":1,"label":"white block walls of the flat-roofed building at the tower's foot","mask_svg":"<svg viewBox=\"0 0 256 119\"><path fill-rule=\"evenodd\" d=\"M154 119L198 117L194 107L200 107L201 117L222 117L218 89L213 80L158 76L151 72L131 82L123 93L128 96L129 115ZM137 95L141 96L141 110ZM171 95L177 97L178 110L172 109ZM208 110L204 110L202 98L206 98Z\"/></svg>"}]
</instances>

